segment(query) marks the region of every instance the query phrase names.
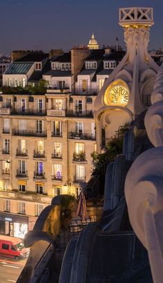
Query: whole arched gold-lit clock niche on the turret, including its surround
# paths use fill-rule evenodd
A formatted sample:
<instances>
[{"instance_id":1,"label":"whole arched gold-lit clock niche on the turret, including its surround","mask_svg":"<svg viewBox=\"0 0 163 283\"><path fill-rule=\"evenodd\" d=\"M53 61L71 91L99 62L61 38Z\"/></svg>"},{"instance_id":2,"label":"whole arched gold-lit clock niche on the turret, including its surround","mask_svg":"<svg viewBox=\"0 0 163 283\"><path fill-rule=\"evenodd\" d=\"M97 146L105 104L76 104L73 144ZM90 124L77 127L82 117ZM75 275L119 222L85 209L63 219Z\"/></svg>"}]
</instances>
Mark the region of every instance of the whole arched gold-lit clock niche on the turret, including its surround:
<instances>
[{"instance_id":1,"label":"whole arched gold-lit clock niche on the turret, including its surround","mask_svg":"<svg viewBox=\"0 0 163 283\"><path fill-rule=\"evenodd\" d=\"M106 89L104 103L106 105L126 106L128 104L129 93L127 84L118 79L113 81Z\"/></svg>"}]
</instances>

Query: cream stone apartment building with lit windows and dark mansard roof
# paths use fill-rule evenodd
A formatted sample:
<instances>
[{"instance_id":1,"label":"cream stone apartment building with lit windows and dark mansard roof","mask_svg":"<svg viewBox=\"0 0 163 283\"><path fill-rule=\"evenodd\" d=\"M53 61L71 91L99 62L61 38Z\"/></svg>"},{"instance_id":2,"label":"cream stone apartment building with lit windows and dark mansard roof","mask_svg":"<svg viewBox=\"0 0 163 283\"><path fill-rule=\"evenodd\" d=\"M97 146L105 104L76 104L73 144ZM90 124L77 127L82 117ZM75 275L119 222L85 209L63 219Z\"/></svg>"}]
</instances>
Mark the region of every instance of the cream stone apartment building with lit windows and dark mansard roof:
<instances>
[{"instance_id":1,"label":"cream stone apartment building with lit windows and dark mansard roof","mask_svg":"<svg viewBox=\"0 0 163 283\"><path fill-rule=\"evenodd\" d=\"M21 53L22 55L22 53ZM94 102L123 54L29 53L3 75L0 96L0 233L23 237L59 194L79 195L93 170ZM44 79L45 93L28 93ZM24 89L18 92L19 88ZM4 89L6 89L4 88Z\"/></svg>"}]
</instances>

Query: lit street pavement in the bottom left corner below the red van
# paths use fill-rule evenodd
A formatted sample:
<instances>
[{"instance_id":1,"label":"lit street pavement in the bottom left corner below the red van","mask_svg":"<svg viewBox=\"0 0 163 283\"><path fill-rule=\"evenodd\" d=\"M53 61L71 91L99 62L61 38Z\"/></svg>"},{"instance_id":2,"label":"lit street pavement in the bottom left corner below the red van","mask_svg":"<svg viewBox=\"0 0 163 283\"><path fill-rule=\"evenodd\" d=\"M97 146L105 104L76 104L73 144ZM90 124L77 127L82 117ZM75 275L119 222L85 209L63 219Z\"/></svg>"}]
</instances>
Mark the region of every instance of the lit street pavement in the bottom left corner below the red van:
<instances>
[{"instance_id":1,"label":"lit street pavement in the bottom left corner below the red van","mask_svg":"<svg viewBox=\"0 0 163 283\"><path fill-rule=\"evenodd\" d=\"M15 283L19 277L26 259L14 260L7 257L0 257L0 283Z\"/></svg>"}]
</instances>

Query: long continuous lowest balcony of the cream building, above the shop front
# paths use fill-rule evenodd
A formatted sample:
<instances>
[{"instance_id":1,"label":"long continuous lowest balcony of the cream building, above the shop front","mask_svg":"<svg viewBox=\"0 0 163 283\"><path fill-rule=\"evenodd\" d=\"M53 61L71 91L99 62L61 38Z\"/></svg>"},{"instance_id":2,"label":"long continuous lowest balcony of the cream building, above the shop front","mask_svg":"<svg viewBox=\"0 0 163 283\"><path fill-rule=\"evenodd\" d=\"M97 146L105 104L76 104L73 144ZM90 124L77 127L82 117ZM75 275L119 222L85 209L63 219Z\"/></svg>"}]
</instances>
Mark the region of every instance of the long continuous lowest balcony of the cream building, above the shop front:
<instances>
[{"instance_id":1,"label":"long continuous lowest balcony of the cream building, above the shop front","mask_svg":"<svg viewBox=\"0 0 163 283\"><path fill-rule=\"evenodd\" d=\"M17 191L1 191L0 190L0 197L8 197L10 199L19 199L25 200L27 202L41 202L43 204L51 204L52 197L48 197L46 195L36 195L34 193L21 193Z\"/></svg>"}]
</instances>

